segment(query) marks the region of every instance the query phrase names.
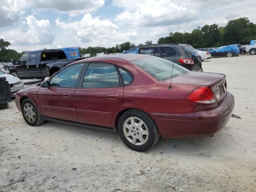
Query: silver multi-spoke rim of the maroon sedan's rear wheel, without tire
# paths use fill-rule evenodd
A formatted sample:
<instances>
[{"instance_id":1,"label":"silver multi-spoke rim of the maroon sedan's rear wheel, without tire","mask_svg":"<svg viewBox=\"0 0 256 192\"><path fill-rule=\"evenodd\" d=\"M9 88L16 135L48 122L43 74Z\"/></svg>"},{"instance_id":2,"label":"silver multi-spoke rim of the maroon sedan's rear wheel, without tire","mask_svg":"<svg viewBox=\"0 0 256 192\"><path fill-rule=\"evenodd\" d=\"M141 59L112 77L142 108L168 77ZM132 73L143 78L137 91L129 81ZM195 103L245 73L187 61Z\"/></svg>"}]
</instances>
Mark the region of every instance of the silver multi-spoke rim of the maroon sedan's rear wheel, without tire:
<instances>
[{"instance_id":1,"label":"silver multi-spoke rim of the maroon sedan's rear wheel, without tire","mask_svg":"<svg viewBox=\"0 0 256 192\"><path fill-rule=\"evenodd\" d=\"M126 139L134 145L143 145L148 140L148 128L140 118L128 118L124 122L123 131Z\"/></svg>"}]
</instances>

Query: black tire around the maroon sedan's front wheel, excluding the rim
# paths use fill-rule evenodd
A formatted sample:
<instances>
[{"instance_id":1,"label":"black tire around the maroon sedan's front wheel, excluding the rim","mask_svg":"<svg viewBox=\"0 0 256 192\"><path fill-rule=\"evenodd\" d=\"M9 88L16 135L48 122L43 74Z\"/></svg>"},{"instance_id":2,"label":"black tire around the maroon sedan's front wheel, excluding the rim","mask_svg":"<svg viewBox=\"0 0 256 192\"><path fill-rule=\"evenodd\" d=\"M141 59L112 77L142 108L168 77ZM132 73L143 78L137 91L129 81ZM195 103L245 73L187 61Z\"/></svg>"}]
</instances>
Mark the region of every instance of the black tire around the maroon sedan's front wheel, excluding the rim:
<instances>
[{"instance_id":1,"label":"black tire around the maroon sedan's front wheel, excluding the rim","mask_svg":"<svg viewBox=\"0 0 256 192\"><path fill-rule=\"evenodd\" d=\"M26 118L26 116L25 116L25 113L24 113L24 106L25 106L25 104L30 104L30 105L34 108L34 112L35 112L36 115L35 115L35 119L34 119L33 122L30 122L30 121ZM22 104L21 104L21 110L22 110L22 116L23 116L24 120L25 120L26 123L29 124L30 126L38 126L38 125L44 123L44 117L43 117L43 115L38 112L38 109L37 109L36 105L34 104L34 102L33 102L31 99L27 98L27 99L25 99L25 100L22 102Z\"/></svg>"}]
</instances>

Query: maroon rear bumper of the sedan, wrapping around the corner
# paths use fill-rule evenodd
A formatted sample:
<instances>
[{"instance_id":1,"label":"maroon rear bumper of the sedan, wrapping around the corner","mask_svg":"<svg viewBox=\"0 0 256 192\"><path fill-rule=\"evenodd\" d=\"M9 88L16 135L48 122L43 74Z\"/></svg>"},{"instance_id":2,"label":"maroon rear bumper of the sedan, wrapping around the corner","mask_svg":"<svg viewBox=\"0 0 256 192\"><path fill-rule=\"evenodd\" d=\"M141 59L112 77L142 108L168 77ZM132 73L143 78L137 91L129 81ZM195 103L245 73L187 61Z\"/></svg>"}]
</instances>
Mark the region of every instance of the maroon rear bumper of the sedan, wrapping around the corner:
<instances>
[{"instance_id":1,"label":"maroon rear bumper of the sedan, wrapping around the corner","mask_svg":"<svg viewBox=\"0 0 256 192\"><path fill-rule=\"evenodd\" d=\"M234 110L234 96L227 93L215 108L188 114L151 113L163 138L210 136L223 128Z\"/></svg>"}]
</instances>

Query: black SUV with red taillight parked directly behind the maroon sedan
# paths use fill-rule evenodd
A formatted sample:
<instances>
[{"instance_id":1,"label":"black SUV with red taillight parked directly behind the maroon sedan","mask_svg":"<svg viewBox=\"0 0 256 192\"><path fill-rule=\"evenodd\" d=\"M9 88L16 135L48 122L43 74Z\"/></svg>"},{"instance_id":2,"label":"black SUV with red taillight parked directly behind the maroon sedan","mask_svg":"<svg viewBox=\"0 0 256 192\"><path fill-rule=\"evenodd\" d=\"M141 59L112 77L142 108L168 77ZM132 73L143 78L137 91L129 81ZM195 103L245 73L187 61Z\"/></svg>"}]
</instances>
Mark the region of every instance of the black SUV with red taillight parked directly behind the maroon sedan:
<instances>
[{"instance_id":1,"label":"black SUV with red taillight parked directly behind the maroon sedan","mask_svg":"<svg viewBox=\"0 0 256 192\"><path fill-rule=\"evenodd\" d=\"M130 48L124 54L146 54L175 62L192 71L203 71L202 58L188 44L165 43Z\"/></svg>"}]
</instances>

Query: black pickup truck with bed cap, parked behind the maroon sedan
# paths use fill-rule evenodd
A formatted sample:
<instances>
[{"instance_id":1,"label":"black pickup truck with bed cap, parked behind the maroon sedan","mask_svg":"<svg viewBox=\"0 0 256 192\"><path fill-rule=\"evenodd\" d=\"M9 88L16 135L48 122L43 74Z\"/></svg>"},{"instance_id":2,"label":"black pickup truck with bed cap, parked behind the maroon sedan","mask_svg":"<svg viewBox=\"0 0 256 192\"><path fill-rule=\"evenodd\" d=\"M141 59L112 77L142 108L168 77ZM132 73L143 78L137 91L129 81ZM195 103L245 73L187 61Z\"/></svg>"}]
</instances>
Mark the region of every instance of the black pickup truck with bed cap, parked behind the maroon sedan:
<instances>
[{"instance_id":1,"label":"black pickup truck with bed cap, parked behind the maroon sedan","mask_svg":"<svg viewBox=\"0 0 256 192\"><path fill-rule=\"evenodd\" d=\"M8 66L8 70L10 74L20 79L37 78L44 80L45 77L52 76L64 66L81 59L83 58L79 58L77 48L43 49L26 52L18 61L12 59L12 64Z\"/></svg>"}]
</instances>

